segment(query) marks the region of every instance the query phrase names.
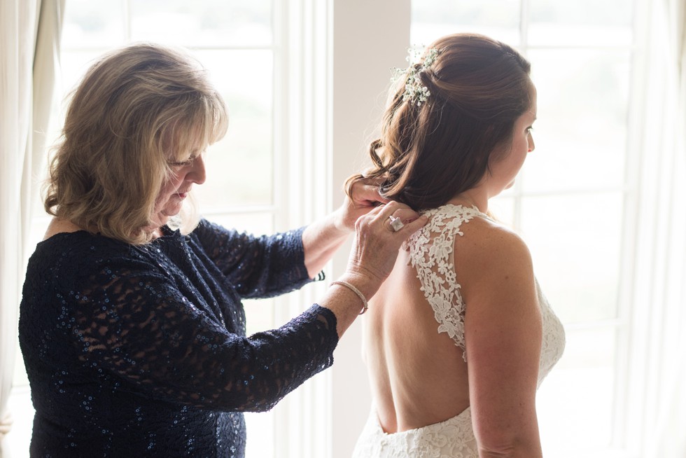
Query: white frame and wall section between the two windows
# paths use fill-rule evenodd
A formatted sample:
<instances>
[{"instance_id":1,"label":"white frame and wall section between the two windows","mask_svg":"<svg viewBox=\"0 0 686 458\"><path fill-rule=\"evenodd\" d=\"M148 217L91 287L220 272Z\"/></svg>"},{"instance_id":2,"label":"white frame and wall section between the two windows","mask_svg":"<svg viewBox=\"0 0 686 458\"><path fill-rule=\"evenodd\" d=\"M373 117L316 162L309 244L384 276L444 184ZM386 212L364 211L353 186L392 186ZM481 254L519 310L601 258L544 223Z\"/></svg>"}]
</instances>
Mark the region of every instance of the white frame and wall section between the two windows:
<instances>
[{"instance_id":1,"label":"white frame and wall section between the two windows","mask_svg":"<svg viewBox=\"0 0 686 458\"><path fill-rule=\"evenodd\" d=\"M405 64L410 4L290 0L288 5L287 62L295 68L288 71L288 106L281 113L290 123L290 165L307 169L302 179L311 183L293 182L286 195L302 199L300 221L307 223L339 207L343 181L367 164L366 144L381 118L390 69ZM318 289L289 296L290 316L342 275L349 247L334 256ZM358 320L346 331L331 369L277 406L283 408L276 438L279 457L350 457L371 401L360 326Z\"/></svg>"}]
</instances>

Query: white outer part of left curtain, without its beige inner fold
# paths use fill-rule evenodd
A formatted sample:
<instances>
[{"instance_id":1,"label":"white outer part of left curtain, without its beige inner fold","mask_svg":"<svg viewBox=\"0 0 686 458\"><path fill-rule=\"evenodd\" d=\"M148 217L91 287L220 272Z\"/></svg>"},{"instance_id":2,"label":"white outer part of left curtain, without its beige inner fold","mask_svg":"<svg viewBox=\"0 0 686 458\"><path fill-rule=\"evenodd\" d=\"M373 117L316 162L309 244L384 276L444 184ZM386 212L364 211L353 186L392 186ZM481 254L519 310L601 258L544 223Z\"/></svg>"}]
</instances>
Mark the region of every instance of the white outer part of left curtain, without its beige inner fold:
<instances>
[{"instance_id":1,"label":"white outer part of left curtain, without its beige inner fold","mask_svg":"<svg viewBox=\"0 0 686 458\"><path fill-rule=\"evenodd\" d=\"M39 1L0 2L0 457L1 439L10 431L8 398L12 387L17 304L20 298L21 177L31 132L31 68Z\"/></svg>"}]
</instances>

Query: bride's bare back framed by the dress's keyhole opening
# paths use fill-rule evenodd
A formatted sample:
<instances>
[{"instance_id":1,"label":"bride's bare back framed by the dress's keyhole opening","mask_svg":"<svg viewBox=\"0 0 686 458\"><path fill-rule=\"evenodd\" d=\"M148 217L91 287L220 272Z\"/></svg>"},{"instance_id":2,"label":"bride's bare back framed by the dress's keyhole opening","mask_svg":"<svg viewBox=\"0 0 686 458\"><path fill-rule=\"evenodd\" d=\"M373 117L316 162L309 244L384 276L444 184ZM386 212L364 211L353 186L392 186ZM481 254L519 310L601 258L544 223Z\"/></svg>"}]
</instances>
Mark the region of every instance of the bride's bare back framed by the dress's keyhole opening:
<instances>
[{"instance_id":1,"label":"bride's bare back framed by the dress's keyhole opening","mask_svg":"<svg viewBox=\"0 0 686 458\"><path fill-rule=\"evenodd\" d=\"M401 251L365 317L365 361L381 427L407 431L469 405L467 363L438 323Z\"/></svg>"}]
</instances>

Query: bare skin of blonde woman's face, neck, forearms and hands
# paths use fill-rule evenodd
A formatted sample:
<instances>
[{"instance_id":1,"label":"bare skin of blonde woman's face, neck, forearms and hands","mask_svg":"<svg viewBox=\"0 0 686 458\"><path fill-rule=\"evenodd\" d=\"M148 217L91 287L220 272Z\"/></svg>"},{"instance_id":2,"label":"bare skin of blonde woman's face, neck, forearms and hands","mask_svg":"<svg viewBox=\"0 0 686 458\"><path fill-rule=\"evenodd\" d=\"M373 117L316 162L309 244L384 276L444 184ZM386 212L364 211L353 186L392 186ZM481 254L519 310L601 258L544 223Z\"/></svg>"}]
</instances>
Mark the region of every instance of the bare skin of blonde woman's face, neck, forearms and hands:
<instances>
[{"instance_id":1,"label":"bare skin of blonde woman's face, neck, forearms and hands","mask_svg":"<svg viewBox=\"0 0 686 458\"><path fill-rule=\"evenodd\" d=\"M181 211L183 201L195 185L204 183L206 174L203 154L191 151L188 160L170 162L173 174L160 188L148 230L154 237L162 235L161 228L169 217ZM304 264L309 277L315 277L341 247L351 233L356 233L349 263L339 278L355 286L365 298L372 298L393 268L398 248L407 237L425 225L428 219L417 217L407 205L389 202L379 196L374 183L356 183L351 198L332 214L307 226L302 234ZM389 216L401 218L405 227L397 232L390 228ZM57 233L83 230L78 225L53 218L44 239ZM318 301L331 310L337 319L339 338L353 323L362 309L360 298L345 286L332 285Z\"/></svg>"}]
</instances>

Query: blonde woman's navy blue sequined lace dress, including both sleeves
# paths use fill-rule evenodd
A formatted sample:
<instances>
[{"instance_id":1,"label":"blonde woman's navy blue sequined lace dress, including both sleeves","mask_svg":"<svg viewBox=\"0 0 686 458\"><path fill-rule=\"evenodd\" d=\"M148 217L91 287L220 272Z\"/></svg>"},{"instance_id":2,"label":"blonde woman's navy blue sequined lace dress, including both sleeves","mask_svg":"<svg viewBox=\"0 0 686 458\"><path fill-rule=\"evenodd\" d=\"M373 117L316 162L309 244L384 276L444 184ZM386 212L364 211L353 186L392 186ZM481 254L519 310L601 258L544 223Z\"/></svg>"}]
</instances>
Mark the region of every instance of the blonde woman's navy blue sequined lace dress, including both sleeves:
<instances>
[{"instance_id":1,"label":"blonde woman's navy blue sequined lace dress, including both sleeves","mask_svg":"<svg viewBox=\"0 0 686 458\"><path fill-rule=\"evenodd\" d=\"M80 231L36 247L19 329L31 457L243 457L241 412L332 364L336 319L318 305L246 337L241 298L311 281L302 230L163 229L144 246Z\"/></svg>"}]
</instances>

